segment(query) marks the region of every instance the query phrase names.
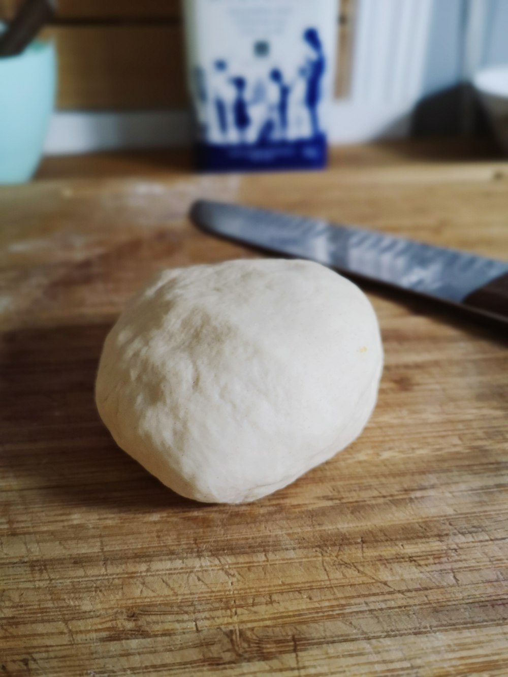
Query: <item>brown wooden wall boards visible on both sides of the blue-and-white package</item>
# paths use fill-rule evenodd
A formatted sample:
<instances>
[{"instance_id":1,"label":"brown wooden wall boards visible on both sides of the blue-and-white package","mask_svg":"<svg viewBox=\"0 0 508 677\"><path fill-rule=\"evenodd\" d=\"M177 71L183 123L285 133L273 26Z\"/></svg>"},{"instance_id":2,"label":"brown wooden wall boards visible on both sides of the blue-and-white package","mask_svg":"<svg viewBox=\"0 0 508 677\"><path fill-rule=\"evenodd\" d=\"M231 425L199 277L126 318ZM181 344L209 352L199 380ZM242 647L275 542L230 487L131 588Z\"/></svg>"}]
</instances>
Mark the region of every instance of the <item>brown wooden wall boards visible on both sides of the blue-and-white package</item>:
<instances>
[{"instance_id":1,"label":"brown wooden wall boards visible on both sides of the blue-and-white package","mask_svg":"<svg viewBox=\"0 0 508 677\"><path fill-rule=\"evenodd\" d=\"M343 0L337 28L336 94L349 91L352 16ZM17 0L0 0L0 20ZM187 105L178 0L60 0L56 24L41 32L58 56L60 110L150 110Z\"/></svg>"}]
</instances>

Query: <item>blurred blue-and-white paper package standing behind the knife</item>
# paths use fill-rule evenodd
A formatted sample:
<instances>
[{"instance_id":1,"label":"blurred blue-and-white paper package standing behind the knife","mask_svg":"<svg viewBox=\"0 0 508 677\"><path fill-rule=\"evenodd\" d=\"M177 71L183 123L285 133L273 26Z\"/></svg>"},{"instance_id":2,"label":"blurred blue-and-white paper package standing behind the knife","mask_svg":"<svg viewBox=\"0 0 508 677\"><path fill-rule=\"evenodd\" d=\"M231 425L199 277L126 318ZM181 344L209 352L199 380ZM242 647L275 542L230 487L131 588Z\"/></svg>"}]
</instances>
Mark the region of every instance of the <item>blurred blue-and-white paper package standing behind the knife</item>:
<instances>
[{"instance_id":1,"label":"blurred blue-and-white paper package standing behind the knife","mask_svg":"<svg viewBox=\"0 0 508 677\"><path fill-rule=\"evenodd\" d=\"M198 167L323 167L337 0L183 5Z\"/></svg>"}]
</instances>

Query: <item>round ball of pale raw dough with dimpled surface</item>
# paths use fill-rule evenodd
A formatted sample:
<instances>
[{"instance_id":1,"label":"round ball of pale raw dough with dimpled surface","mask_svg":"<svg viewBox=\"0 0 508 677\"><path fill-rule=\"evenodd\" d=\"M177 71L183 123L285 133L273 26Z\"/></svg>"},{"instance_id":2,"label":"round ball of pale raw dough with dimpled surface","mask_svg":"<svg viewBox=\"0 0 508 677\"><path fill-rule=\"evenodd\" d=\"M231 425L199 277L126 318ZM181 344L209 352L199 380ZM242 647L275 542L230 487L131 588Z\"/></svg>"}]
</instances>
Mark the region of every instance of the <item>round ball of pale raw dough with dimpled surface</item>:
<instances>
[{"instance_id":1,"label":"round ball of pale raw dough with dimpled surface","mask_svg":"<svg viewBox=\"0 0 508 677\"><path fill-rule=\"evenodd\" d=\"M128 303L96 401L165 485L238 503L358 437L382 365L375 312L352 282L310 261L228 261L165 270Z\"/></svg>"}]
</instances>

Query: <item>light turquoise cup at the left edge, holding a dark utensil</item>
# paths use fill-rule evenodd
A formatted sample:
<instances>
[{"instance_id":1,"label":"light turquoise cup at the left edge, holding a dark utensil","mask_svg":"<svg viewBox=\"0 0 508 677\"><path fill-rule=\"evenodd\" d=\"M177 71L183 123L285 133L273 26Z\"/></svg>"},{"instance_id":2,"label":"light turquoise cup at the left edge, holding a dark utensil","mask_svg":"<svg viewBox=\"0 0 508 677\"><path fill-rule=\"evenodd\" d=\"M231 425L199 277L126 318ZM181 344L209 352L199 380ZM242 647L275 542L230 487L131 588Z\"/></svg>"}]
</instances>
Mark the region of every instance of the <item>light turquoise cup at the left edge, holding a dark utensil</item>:
<instances>
[{"instance_id":1,"label":"light turquoise cup at the left edge, holding a dark utensil","mask_svg":"<svg viewBox=\"0 0 508 677\"><path fill-rule=\"evenodd\" d=\"M0 183L33 176L43 152L56 91L53 43L35 40L0 57Z\"/></svg>"}]
</instances>

